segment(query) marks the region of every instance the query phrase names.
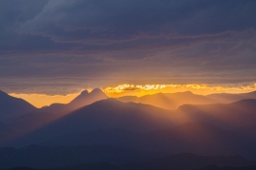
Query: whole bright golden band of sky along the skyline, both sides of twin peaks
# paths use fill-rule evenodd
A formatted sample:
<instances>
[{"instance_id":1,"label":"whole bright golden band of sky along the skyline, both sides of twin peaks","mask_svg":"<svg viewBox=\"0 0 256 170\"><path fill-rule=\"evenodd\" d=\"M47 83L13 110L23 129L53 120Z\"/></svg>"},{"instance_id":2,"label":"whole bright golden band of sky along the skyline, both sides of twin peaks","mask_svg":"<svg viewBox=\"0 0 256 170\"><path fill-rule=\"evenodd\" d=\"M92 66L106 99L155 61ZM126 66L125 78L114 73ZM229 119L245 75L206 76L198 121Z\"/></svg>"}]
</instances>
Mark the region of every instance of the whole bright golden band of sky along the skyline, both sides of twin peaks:
<instances>
[{"instance_id":1,"label":"whole bright golden band of sky along the skyline, both sides of twin peaks","mask_svg":"<svg viewBox=\"0 0 256 170\"><path fill-rule=\"evenodd\" d=\"M87 89L89 92L91 88ZM176 93L191 91L195 94L207 95L212 93L246 93L256 90L256 84L246 86L232 85L114 85L102 88L109 97L117 98L121 96L144 96L156 93ZM82 91L82 90L81 90ZM42 107L53 103L67 104L71 102L81 91L68 95L46 95L46 94L16 94L11 96L22 98L36 107Z\"/></svg>"}]
</instances>

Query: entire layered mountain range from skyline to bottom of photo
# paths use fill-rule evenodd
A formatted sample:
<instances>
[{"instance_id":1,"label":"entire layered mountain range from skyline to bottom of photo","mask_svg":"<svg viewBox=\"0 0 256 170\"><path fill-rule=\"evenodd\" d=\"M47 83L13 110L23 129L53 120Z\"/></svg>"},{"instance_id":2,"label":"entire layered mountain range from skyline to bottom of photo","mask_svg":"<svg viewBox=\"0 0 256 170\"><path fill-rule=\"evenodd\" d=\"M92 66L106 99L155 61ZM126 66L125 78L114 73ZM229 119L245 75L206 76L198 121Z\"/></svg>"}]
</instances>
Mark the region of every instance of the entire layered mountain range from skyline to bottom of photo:
<instances>
[{"instance_id":1,"label":"entire layered mountain range from skyline to bottom of photo","mask_svg":"<svg viewBox=\"0 0 256 170\"><path fill-rule=\"evenodd\" d=\"M256 165L255 161L236 164L242 157L256 160L255 92L208 96L159 93L112 99L94 89L90 93L83 91L69 104L42 108L4 92L0 99L0 169ZM188 164L207 163L179 165L181 153L192 154L181 157ZM202 155L200 161L193 154ZM215 163L209 164L207 155L240 156L229 163L220 164L213 159Z\"/></svg>"}]
</instances>

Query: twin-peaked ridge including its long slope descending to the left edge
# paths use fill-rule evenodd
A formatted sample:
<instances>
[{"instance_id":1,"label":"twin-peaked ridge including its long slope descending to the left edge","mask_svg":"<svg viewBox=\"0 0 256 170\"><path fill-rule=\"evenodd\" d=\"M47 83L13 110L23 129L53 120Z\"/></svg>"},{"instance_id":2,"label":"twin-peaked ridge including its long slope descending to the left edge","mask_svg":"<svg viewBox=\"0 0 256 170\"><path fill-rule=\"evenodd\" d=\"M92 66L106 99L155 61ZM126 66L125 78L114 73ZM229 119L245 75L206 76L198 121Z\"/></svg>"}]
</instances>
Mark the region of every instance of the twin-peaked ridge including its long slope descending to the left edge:
<instances>
[{"instance_id":1,"label":"twin-peaked ridge including its long slope descending to the left edge","mask_svg":"<svg viewBox=\"0 0 256 170\"><path fill-rule=\"evenodd\" d=\"M91 93L85 90L70 104L52 104L51 106L43 107L41 109L34 108L31 112L24 112L22 117L12 120L12 122L7 125L7 129L9 129L7 134L9 134L10 138L7 138L6 136L1 138L0 134L1 143L6 143L11 141L11 139L31 133L44 125L63 117L65 114L78 107L92 104L106 98L107 96L100 89L94 89Z\"/></svg>"}]
</instances>

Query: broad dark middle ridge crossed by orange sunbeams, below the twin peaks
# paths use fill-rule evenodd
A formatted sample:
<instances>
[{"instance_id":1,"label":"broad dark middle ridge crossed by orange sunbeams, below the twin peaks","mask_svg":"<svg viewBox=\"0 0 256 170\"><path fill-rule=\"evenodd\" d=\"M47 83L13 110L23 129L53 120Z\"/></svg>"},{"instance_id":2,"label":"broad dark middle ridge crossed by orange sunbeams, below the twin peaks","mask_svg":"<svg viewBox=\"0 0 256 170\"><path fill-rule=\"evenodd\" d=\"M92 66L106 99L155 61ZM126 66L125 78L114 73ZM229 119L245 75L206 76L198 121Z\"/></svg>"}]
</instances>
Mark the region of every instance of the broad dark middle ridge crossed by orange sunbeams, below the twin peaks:
<instances>
[{"instance_id":1,"label":"broad dark middle ridge crossed by orange sunbeams, below the twin peaks","mask_svg":"<svg viewBox=\"0 0 256 170\"><path fill-rule=\"evenodd\" d=\"M107 99L81 107L11 145L110 144L137 150L256 158L256 136L245 135L242 126L256 123L255 103L256 100L244 100L234 104L182 105L170 111ZM240 131L236 131L238 128Z\"/></svg>"}]
</instances>

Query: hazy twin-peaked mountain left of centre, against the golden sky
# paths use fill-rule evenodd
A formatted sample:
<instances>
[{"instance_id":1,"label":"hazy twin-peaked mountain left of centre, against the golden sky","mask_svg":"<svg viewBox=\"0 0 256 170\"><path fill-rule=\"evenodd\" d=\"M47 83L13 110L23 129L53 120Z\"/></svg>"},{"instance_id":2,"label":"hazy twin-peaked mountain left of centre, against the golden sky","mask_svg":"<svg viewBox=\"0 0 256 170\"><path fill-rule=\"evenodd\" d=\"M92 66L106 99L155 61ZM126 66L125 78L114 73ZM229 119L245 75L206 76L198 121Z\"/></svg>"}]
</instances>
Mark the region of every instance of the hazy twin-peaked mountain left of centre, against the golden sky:
<instances>
[{"instance_id":1,"label":"hazy twin-peaked mountain left of centre, against the golden sky","mask_svg":"<svg viewBox=\"0 0 256 170\"><path fill-rule=\"evenodd\" d=\"M96 101L104 100L107 98L107 95L99 88L94 89L90 93L87 90L84 90L69 104L51 104L50 106L42 107L40 111L51 113L68 113L84 105L93 104Z\"/></svg>"}]
</instances>

